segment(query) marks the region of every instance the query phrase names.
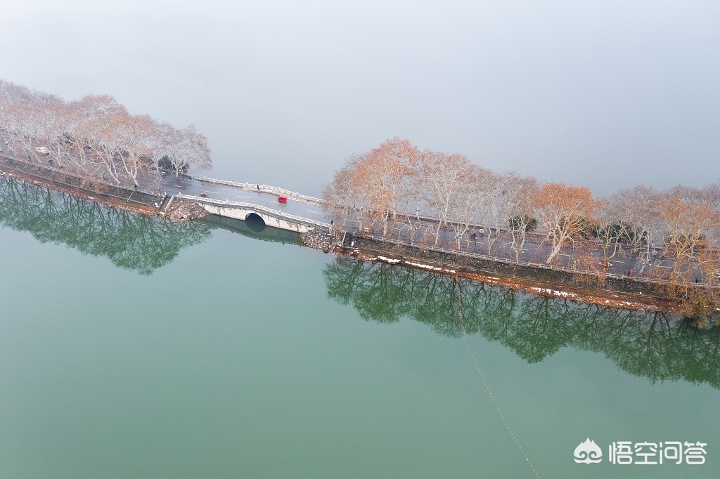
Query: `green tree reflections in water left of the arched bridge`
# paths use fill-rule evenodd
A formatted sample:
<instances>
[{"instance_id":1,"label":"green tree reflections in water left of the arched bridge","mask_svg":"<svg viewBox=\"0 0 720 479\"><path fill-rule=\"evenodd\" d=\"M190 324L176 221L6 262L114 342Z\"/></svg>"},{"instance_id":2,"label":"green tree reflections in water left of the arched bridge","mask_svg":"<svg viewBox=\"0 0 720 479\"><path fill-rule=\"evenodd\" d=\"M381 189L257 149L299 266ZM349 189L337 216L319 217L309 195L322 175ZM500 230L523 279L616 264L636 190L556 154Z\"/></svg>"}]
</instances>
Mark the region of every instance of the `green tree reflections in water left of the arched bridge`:
<instances>
[{"instance_id":1,"label":"green tree reflections in water left of the arched bridge","mask_svg":"<svg viewBox=\"0 0 720 479\"><path fill-rule=\"evenodd\" d=\"M0 224L149 275L210 237L202 222L170 222L0 177Z\"/></svg>"}]
</instances>

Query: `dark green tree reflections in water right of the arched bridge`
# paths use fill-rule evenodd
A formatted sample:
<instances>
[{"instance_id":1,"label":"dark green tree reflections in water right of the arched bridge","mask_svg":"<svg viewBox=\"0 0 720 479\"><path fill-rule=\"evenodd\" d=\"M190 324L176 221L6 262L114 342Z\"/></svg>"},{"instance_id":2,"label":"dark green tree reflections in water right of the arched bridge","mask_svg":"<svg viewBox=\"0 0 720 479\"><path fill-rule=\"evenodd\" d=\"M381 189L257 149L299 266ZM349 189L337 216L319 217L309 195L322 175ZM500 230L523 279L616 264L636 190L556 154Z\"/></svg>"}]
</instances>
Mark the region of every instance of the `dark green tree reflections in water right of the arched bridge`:
<instances>
[{"instance_id":1,"label":"dark green tree reflections in water right of the arched bridge","mask_svg":"<svg viewBox=\"0 0 720 479\"><path fill-rule=\"evenodd\" d=\"M561 347L602 352L628 373L684 379L720 389L720 327L696 329L663 313L629 311L534 296L472 280L384 263L337 257L323 270L328 296L350 304L366 320L428 324L461 337L457 291L467 334L509 347L540 362Z\"/></svg>"}]
</instances>

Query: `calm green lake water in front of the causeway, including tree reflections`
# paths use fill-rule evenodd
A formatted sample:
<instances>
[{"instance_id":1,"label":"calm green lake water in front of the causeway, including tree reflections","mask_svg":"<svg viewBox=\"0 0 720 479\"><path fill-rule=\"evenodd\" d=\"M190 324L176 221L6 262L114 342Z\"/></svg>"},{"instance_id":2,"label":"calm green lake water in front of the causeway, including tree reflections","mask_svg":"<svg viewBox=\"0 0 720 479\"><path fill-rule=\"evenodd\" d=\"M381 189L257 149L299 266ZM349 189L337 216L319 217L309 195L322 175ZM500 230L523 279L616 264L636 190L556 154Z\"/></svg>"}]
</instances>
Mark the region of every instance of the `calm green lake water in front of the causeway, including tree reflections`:
<instances>
[{"instance_id":1,"label":"calm green lake water in front of the causeway, including tree reflections","mask_svg":"<svg viewBox=\"0 0 720 479\"><path fill-rule=\"evenodd\" d=\"M720 475L719 328L6 179L0 245L1 478Z\"/></svg>"}]
</instances>

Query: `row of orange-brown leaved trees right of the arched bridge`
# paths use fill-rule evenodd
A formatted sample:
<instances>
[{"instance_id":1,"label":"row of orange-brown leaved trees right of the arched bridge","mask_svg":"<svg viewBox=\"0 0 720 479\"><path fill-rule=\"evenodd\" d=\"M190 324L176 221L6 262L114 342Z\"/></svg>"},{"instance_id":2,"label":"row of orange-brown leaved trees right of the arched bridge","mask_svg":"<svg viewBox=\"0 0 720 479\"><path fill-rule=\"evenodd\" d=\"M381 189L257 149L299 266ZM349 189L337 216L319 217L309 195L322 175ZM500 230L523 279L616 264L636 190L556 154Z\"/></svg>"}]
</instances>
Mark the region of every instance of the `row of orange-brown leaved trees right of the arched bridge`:
<instances>
[{"instance_id":1,"label":"row of orange-brown leaved trees right of the arched bridge","mask_svg":"<svg viewBox=\"0 0 720 479\"><path fill-rule=\"evenodd\" d=\"M429 241L436 245L442 229L453 231L459 245L481 225L492 232L489 253L498 238L507 237L519 257L526 235L536 229L550 246L546 263L570 246L600 247L607 257L640 253L648 260L664 246L663 254L672 260L669 276L689 278L694 270L696 277L701 267L703 278L712 281L720 271L720 183L665 191L635 186L595 198L588 188L496 172L462 155L419 150L393 138L347 160L323 199L337 224L357 217L361 228L375 227L384 235L393 222L414 232L432 219Z\"/></svg>"}]
</instances>

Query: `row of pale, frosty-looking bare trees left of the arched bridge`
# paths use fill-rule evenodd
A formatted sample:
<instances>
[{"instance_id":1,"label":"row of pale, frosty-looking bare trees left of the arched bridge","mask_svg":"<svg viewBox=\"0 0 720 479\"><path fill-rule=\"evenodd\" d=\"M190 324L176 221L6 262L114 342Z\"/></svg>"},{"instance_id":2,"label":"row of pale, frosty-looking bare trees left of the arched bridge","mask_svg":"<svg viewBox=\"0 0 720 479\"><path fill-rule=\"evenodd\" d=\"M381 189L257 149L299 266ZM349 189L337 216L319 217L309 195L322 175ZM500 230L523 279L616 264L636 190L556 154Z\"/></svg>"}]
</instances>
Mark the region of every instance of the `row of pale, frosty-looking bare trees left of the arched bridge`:
<instances>
[{"instance_id":1,"label":"row of pale, frosty-looking bare trees left of the arched bridge","mask_svg":"<svg viewBox=\"0 0 720 479\"><path fill-rule=\"evenodd\" d=\"M0 80L0 140L6 155L63 172L137 188L158 162L176 174L212 167L207 139L192 125L178 129L130 114L112 96L77 101Z\"/></svg>"}]
</instances>

